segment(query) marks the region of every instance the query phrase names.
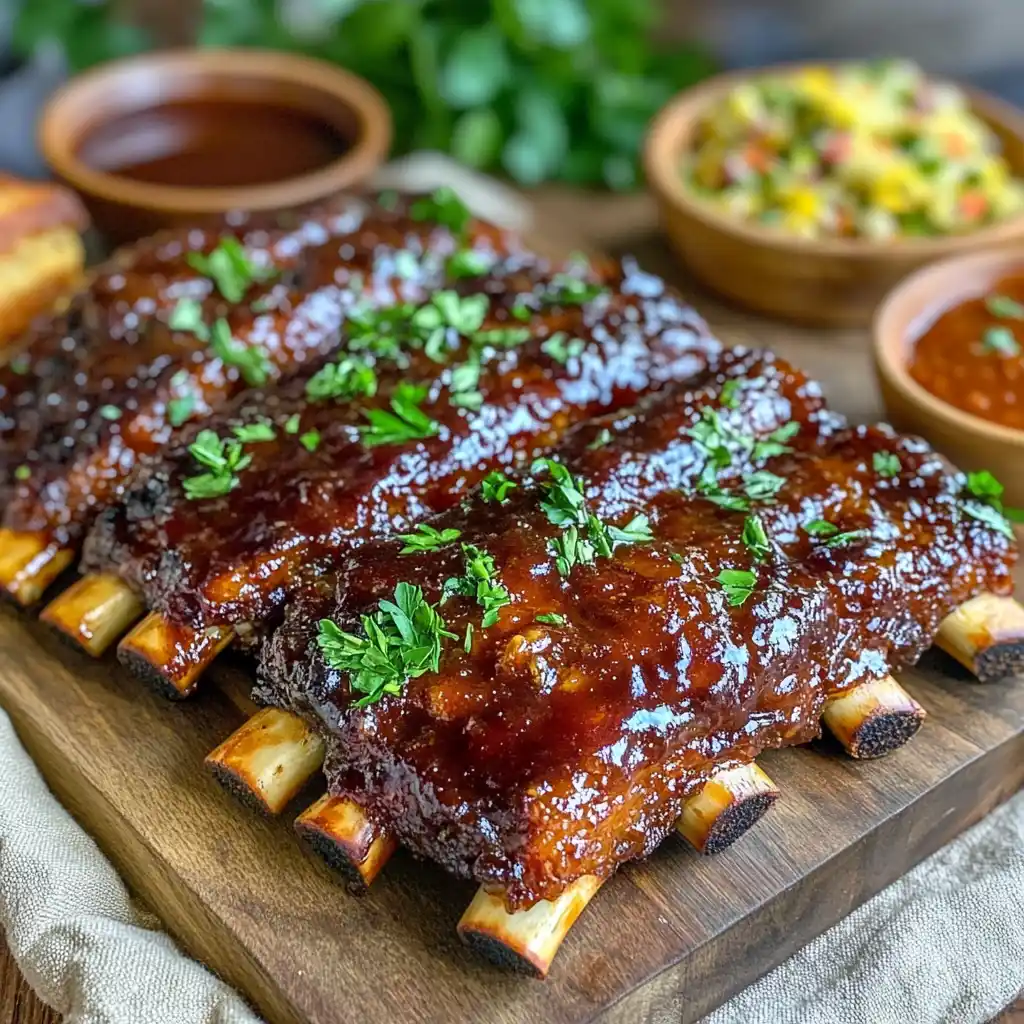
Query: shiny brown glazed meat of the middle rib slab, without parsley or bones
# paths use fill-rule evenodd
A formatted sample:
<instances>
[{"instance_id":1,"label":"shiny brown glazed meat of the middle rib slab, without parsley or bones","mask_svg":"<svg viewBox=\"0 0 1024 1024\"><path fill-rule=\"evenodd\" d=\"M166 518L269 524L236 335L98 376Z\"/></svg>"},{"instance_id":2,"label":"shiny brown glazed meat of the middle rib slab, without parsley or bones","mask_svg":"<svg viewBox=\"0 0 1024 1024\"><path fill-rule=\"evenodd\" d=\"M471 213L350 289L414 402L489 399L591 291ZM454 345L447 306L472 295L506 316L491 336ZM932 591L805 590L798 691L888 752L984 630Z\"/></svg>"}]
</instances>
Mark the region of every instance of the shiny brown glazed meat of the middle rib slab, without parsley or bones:
<instances>
[{"instance_id":1,"label":"shiny brown glazed meat of the middle rib slab, without parsley or bones","mask_svg":"<svg viewBox=\"0 0 1024 1024\"><path fill-rule=\"evenodd\" d=\"M185 498L182 480L199 471L179 445L154 461L122 503L96 523L86 567L117 571L174 624L265 625L289 593L336 564L354 545L386 536L458 502L490 470L528 465L567 429L634 402L668 381L717 359L721 344L692 308L632 264L609 267L603 295L583 304L546 304L527 322L512 315L523 296L546 294L543 264L508 263L486 279L460 280L465 296L488 297L483 330L525 329L528 340L485 348L477 410L453 404L453 373L468 342L437 362L423 351L407 365L378 367L372 397L312 401L307 375L276 391L240 398L203 424L228 436L240 423L266 419L272 441L247 446L252 464L220 499ZM552 335L580 340L562 358L545 350ZM423 385L422 410L435 436L368 446L358 428L368 409L386 410L401 383ZM298 417L292 433L284 429ZM308 451L302 434L315 430Z\"/></svg>"}]
</instances>

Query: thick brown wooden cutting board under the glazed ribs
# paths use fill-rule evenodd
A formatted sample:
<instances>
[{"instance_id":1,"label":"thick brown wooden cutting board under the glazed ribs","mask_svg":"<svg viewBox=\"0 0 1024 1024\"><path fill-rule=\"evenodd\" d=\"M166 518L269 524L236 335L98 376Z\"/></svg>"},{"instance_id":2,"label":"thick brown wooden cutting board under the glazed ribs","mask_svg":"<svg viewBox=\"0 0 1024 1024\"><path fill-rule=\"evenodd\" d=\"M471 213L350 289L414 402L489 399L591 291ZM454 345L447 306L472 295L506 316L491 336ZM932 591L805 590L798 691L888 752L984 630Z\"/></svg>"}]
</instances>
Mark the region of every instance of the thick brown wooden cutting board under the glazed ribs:
<instances>
[{"instance_id":1,"label":"thick brown wooden cutting board under the glazed ribs","mask_svg":"<svg viewBox=\"0 0 1024 1024\"><path fill-rule=\"evenodd\" d=\"M841 410L877 415L863 335L823 349L820 334L697 305L723 336L761 335L822 378ZM259 818L206 775L204 755L242 721L247 671L228 660L217 685L170 705L113 657L0 608L0 703L54 792L184 948L272 1024L693 1021L1024 784L1024 680L981 686L930 653L901 677L930 713L907 746L870 763L827 742L767 755L782 796L749 836L713 858L672 838L624 868L537 982L459 943L473 886L399 853L353 897L304 854L294 814Z\"/></svg>"}]
</instances>

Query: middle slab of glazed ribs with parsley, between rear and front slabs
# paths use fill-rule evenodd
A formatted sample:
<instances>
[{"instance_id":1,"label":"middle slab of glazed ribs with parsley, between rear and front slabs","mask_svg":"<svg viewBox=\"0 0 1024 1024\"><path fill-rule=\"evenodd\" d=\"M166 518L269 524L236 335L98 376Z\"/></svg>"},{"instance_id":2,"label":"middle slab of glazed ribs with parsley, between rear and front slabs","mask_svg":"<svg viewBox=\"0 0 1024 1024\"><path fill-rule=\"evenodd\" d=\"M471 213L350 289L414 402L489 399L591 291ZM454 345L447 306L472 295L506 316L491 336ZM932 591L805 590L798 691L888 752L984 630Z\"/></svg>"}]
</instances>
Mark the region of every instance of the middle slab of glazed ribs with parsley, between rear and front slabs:
<instances>
[{"instance_id":1,"label":"middle slab of glazed ribs with parsley, between rear and front slabs","mask_svg":"<svg viewBox=\"0 0 1024 1024\"><path fill-rule=\"evenodd\" d=\"M630 264L581 274L506 267L350 321L336 358L240 397L153 460L85 549L91 579L117 575L156 609L123 659L188 692L225 642L272 625L353 545L410 528L573 424L722 359L656 279ZM418 325L438 322L439 347L413 343ZM229 487L207 496L190 481L204 475L196 443L212 435L253 439Z\"/></svg>"}]
</instances>

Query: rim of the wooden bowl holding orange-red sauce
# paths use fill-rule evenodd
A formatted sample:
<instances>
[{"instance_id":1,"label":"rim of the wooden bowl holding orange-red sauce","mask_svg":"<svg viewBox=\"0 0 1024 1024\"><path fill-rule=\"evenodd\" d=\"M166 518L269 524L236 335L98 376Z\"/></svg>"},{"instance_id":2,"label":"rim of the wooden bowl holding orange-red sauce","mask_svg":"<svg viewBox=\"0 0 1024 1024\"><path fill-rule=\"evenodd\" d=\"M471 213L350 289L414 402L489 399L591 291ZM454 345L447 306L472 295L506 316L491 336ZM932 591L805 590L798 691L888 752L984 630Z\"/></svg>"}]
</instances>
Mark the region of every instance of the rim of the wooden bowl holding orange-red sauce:
<instances>
[{"instance_id":1,"label":"rim of the wooden bowl holding orange-red sauce","mask_svg":"<svg viewBox=\"0 0 1024 1024\"><path fill-rule=\"evenodd\" d=\"M991 423L950 406L926 390L907 370L907 356L921 327L946 309L979 294L979 279L994 281L1024 269L1024 246L969 253L939 260L904 278L883 299L874 314L874 361L886 381L910 406L945 426L985 441L1024 449L1024 430Z\"/></svg>"}]
</instances>

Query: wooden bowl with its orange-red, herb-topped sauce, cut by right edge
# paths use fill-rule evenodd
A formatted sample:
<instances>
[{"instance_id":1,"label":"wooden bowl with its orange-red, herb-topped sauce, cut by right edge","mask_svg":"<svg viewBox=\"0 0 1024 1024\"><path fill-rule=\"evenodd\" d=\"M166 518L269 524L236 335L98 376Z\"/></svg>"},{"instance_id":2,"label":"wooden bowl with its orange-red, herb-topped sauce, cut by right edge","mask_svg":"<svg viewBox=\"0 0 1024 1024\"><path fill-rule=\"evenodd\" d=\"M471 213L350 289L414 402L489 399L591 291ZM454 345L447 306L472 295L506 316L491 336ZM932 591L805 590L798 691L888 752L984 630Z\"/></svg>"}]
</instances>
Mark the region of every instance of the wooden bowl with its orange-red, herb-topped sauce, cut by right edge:
<instances>
[{"instance_id":1,"label":"wooden bowl with its orange-red, herb-topped sauce, cut by right edge","mask_svg":"<svg viewBox=\"0 0 1024 1024\"><path fill-rule=\"evenodd\" d=\"M889 419L968 470L990 470L1024 505L1024 248L919 270L874 321Z\"/></svg>"}]
</instances>

